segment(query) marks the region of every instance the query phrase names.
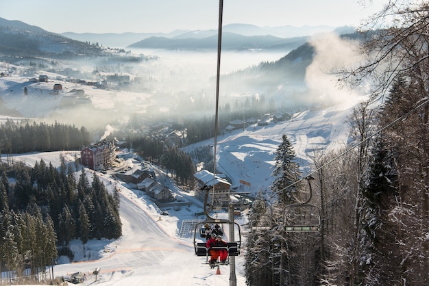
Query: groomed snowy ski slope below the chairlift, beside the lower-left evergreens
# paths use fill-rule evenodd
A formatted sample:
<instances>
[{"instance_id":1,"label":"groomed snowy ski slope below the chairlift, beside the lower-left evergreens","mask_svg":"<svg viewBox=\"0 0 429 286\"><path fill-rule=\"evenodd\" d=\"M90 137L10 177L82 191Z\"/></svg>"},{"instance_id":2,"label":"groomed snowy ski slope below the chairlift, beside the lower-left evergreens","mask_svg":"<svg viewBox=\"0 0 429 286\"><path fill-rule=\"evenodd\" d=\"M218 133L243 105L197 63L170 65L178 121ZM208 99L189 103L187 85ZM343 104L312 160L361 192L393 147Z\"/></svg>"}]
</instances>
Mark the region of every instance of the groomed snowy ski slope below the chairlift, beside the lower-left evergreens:
<instances>
[{"instance_id":1,"label":"groomed snowy ski slope below the chairlift, beside the lower-left evergreens","mask_svg":"<svg viewBox=\"0 0 429 286\"><path fill-rule=\"evenodd\" d=\"M58 167L60 155L66 161L73 161L72 152L14 155L14 160L32 165L43 159ZM97 175L108 190L114 187L120 190L123 236L117 240L90 240L85 252L80 241L71 242L75 257L73 261L60 257L59 264L53 268L55 276L84 272L88 280L82 285L230 285L229 266L221 266L221 274L217 274L216 269L204 264L205 257L195 255L193 237L182 238L177 234L182 220L195 219L195 213L203 211L202 203L192 193L182 192L168 182L173 192L189 205L177 210L160 210L143 192L132 190L107 174ZM162 216L162 211L168 211L169 216ZM219 218L226 218L226 213L219 213ZM237 222L243 224L245 221L242 218ZM225 240L228 241L228 237L225 236ZM236 257L237 285L245 285L243 261L241 252ZM95 268L100 268L97 282L92 275Z\"/></svg>"}]
</instances>

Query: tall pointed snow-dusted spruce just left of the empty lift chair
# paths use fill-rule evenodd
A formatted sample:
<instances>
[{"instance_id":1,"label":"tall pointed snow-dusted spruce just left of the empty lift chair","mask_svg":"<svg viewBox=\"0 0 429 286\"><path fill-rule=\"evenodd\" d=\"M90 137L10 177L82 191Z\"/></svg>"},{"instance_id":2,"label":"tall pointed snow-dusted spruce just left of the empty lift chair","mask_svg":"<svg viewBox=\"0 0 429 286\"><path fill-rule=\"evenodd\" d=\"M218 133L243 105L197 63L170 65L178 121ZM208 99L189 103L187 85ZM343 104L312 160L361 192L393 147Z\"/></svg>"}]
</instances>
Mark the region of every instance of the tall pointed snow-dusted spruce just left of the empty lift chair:
<instances>
[{"instance_id":1,"label":"tall pointed snow-dusted spruce just left of the empty lift chair","mask_svg":"<svg viewBox=\"0 0 429 286\"><path fill-rule=\"evenodd\" d=\"M295 184L299 180L300 172L295 162L295 151L286 135L282 135L282 142L275 151L275 169L272 176L275 177L271 185L274 200L268 208L264 208L265 211L268 210L267 213L252 216L252 225L260 225L263 221L270 228L263 232L254 231L249 237L246 269L247 279L252 281L251 285L293 285L299 281L298 263L296 259L295 263L292 261L293 255L296 255L296 243L291 239L291 235L285 233L287 218L284 213L287 205L300 200L299 185ZM260 202L261 199L259 198ZM257 203L256 206L260 207L262 203ZM258 263L255 263L256 261ZM253 270L251 265L254 265Z\"/></svg>"}]
</instances>

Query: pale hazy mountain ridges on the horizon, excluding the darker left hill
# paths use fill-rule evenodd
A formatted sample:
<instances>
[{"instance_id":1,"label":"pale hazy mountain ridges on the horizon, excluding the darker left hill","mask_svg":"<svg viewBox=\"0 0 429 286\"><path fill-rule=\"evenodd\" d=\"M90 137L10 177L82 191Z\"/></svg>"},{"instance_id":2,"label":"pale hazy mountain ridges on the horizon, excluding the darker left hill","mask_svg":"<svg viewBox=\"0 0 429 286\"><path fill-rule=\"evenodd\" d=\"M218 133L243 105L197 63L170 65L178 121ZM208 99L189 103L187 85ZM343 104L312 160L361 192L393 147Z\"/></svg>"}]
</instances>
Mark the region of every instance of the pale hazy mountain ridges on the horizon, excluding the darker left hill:
<instances>
[{"instance_id":1,"label":"pale hazy mountain ridges on the horizon, excluding the darker left hill","mask_svg":"<svg viewBox=\"0 0 429 286\"><path fill-rule=\"evenodd\" d=\"M331 27L331 26L284 26L284 27L258 27L249 24L230 24L222 27L223 42L225 49L246 49L247 47L273 47L278 49L282 45L290 47L291 42L301 42L308 36L317 33L325 33L328 31L336 31L338 34L351 33L354 30L352 27ZM217 41L217 29L210 30L175 30L171 33L122 33L122 34L93 34L93 33L62 33L62 36L72 38L74 40L81 40L84 42L97 42L104 47L139 47L147 49L206 49L212 47L212 42ZM234 43L233 36L226 39L225 35L238 35L237 42ZM260 36L259 38L256 36ZM261 36L266 36L261 37ZM246 37L250 37L247 38ZM275 47L272 44L273 39L277 38L276 44L280 46ZM293 38L293 40L291 40ZM199 40L197 40L199 39ZM245 42L249 44L243 44ZM283 42L284 41L284 42ZM174 47L175 44L178 47ZM195 47L193 46L195 44ZM217 44L215 43L215 48ZM244 47L244 48L243 48ZM297 47L297 46L295 46Z\"/></svg>"}]
</instances>

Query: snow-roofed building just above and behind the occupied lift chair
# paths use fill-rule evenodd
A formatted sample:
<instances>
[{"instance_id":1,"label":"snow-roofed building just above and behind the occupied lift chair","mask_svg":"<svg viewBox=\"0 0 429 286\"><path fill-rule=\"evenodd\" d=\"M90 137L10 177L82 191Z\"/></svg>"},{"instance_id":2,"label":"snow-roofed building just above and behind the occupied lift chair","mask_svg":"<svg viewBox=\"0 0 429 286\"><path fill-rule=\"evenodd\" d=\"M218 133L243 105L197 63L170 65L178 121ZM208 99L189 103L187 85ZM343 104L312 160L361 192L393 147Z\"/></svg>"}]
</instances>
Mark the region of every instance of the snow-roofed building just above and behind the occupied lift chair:
<instances>
[{"instance_id":1,"label":"snow-roofed building just above and behind the occupied lift chair","mask_svg":"<svg viewBox=\"0 0 429 286\"><path fill-rule=\"evenodd\" d=\"M214 207L228 207L230 203L231 183L219 175L213 176L208 170L201 170L194 174L197 183L195 196L204 202L206 189L210 190L208 203ZM215 185L215 187L213 187Z\"/></svg>"}]
</instances>

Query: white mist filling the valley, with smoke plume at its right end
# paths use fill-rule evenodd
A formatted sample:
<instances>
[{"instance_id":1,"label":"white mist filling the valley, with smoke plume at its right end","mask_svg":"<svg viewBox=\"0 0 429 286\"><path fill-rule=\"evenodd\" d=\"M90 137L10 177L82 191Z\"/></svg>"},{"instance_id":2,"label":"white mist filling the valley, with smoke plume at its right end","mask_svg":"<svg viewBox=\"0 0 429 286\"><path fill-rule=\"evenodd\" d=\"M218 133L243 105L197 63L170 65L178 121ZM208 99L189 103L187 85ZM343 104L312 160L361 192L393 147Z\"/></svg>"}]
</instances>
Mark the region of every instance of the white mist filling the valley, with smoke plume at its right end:
<instances>
[{"instance_id":1,"label":"white mist filling the valley, with smoke plume at its right end","mask_svg":"<svg viewBox=\"0 0 429 286\"><path fill-rule=\"evenodd\" d=\"M290 51L222 51L219 107L230 108L229 120L265 112L293 114L354 100L365 93L340 90L338 79L331 75L332 71L360 60L355 56L356 43L325 34L313 38L310 44L315 53L302 71L293 66L286 71L269 69ZM302 69L299 63L305 60L297 57L293 64ZM159 122L182 124L215 115L216 51L135 49L120 54L113 51L112 57L107 58L45 62L38 73L45 71L52 82L32 86L29 82L22 83L14 87L15 92L29 86L29 96L20 101L11 94L3 100L9 101L8 105L24 117L85 126L95 133L95 140L105 133L106 126L125 136ZM299 73L303 73L302 77L294 75ZM110 77L118 82L109 82L107 90L99 90L76 82L66 83L66 77L85 81ZM49 96L53 83L64 84L62 94ZM45 94L40 94L43 89ZM84 90L91 104L64 105L63 99L73 89ZM258 109L257 112L251 110L253 113L245 114L252 108ZM239 114L239 118L234 118L234 114Z\"/></svg>"}]
</instances>

